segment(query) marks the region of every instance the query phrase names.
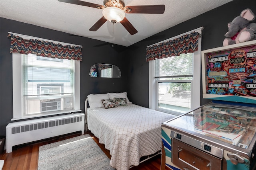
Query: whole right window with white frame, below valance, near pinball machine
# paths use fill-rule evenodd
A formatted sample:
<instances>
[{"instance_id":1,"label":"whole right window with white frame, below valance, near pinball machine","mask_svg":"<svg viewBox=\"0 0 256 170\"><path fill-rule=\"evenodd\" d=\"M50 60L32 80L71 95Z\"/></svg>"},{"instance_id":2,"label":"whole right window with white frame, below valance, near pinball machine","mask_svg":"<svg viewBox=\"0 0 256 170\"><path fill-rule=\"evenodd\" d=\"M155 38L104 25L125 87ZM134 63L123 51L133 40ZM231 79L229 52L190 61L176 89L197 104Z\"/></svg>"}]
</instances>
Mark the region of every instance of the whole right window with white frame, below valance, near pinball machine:
<instances>
[{"instance_id":1,"label":"whole right window with white frame, below valance, near pinball machine","mask_svg":"<svg viewBox=\"0 0 256 170\"><path fill-rule=\"evenodd\" d=\"M200 37L198 41L194 53L150 61L151 109L180 115L200 106Z\"/></svg>"}]
</instances>

